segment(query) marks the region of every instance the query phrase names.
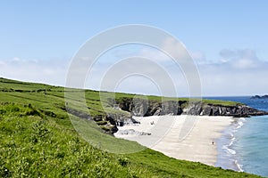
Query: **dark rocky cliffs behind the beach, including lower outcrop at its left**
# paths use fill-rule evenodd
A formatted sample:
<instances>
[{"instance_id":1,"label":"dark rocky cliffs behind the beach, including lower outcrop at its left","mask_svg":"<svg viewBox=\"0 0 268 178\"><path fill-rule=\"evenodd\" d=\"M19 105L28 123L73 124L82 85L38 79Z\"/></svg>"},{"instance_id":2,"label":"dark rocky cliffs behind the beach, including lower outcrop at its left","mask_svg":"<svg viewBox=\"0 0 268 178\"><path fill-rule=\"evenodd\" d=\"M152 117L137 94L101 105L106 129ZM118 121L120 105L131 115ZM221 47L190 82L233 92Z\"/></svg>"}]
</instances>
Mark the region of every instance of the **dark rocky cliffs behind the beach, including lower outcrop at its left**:
<instances>
[{"instance_id":1,"label":"dark rocky cliffs behind the beach, including lower outcrop at its left","mask_svg":"<svg viewBox=\"0 0 268 178\"><path fill-rule=\"evenodd\" d=\"M107 134L117 132L117 126L138 123L132 116L196 115L250 117L268 115L268 112L253 109L244 104L224 106L205 101L190 103L188 101L147 101L122 97L117 100L108 99L108 103L113 109L120 109L125 112L93 118L96 124L100 125Z\"/></svg>"}]
</instances>

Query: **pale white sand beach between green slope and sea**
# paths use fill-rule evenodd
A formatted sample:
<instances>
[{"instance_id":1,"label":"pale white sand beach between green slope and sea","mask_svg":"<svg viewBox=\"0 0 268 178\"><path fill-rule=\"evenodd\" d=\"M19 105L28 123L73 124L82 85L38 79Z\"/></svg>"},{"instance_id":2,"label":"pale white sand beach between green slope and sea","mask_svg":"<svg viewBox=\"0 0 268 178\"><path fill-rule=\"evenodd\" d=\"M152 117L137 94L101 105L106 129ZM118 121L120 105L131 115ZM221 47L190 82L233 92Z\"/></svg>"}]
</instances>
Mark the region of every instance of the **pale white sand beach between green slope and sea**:
<instances>
[{"instance_id":1,"label":"pale white sand beach between green slope and sea","mask_svg":"<svg viewBox=\"0 0 268 178\"><path fill-rule=\"evenodd\" d=\"M151 135L114 135L136 141L172 158L197 161L210 166L214 166L217 159L216 139L233 120L232 117L207 116L154 116L135 119L140 121L139 125L124 125L118 127L119 130L134 129Z\"/></svg>"}]
</instances>

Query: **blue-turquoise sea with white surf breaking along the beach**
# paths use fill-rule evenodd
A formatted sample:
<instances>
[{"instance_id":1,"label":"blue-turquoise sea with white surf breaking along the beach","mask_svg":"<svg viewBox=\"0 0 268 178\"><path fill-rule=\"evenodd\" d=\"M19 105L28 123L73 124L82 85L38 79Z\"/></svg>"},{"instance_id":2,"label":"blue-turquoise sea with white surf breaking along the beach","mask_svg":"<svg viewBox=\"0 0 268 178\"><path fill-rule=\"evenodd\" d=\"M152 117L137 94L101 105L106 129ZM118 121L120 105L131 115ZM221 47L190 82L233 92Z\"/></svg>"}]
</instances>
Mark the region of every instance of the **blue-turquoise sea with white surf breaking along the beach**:
<instances>
[{"instance_id":1,"label":"blue-turquoise sea with white surf breaking along the beach","mask_svg":"<svg viewBox=\"0 0 268 178\"><path fill-rule=\"evenodd\" d=\"M238 101L255 109L268 111L267 99L239 97L205 97ZM268 116L236 118L217 140L215 166L268 177Z\"/></svg>"}]
</instances>

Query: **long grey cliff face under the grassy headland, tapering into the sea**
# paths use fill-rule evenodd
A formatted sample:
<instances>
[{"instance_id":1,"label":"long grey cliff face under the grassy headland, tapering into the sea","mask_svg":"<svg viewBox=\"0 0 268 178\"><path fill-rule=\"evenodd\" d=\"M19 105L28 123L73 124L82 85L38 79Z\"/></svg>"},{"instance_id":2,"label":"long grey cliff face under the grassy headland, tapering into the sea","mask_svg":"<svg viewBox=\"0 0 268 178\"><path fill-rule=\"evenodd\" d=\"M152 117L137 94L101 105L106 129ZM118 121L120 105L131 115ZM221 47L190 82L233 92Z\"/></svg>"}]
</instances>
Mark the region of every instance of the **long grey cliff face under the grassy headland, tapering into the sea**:
<instances>
[{"instance_id":1,"label":"long grey cliff face under the grassy headland, tapering into the sea","mask_svg":"<svg viewBox=\"0 0 268 178\"><path fill-rule=\"evenodd\" d=\"M119 108L131 113L132 116L161 116L161 115L199 115L199 116L231 116L250 117L266 115L267 112L253 109L247 105L222 106L207 104L205 102L188 101L146 101L143 99L120 98L109 101L111 106L115 103Z\"/></svg>"}]
</instances>

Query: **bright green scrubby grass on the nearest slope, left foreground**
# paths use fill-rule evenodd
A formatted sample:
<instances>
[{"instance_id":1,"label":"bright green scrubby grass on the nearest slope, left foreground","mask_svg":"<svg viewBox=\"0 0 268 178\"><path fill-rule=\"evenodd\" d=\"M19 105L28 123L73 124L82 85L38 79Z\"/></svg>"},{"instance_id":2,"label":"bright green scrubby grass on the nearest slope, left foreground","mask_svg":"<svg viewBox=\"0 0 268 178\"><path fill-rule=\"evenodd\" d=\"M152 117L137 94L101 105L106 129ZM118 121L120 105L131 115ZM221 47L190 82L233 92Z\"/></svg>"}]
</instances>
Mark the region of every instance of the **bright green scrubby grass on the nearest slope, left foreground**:
<instances>
[{"instance_id":1,"label":"bright green scrubby grass on the nearest slope, left foreground","mask_svg":"<svg viewBox=\"0 0 268 178\"><path fill-rule=\"evenodd\" d=\"M124 165L122 161L127 158L98 150L72 129L28 110L20 105L1 105L0 177L153 175L141 166Z\"/></svg>"}]
</instances>

